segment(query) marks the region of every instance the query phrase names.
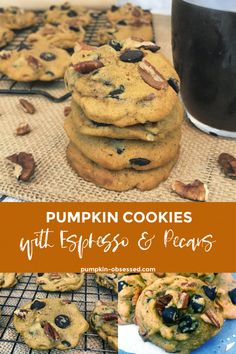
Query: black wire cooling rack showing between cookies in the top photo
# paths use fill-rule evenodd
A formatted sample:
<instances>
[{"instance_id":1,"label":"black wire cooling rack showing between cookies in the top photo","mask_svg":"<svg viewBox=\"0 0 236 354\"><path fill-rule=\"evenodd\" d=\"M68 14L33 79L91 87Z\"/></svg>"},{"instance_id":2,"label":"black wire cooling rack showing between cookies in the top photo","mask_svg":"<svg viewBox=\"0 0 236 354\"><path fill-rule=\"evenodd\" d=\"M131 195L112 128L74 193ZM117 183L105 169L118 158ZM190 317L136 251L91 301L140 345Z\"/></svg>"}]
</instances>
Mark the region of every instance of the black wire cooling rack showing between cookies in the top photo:
<instances>
[{"instance_id":1,"label":"black wire cooling rack showing between cookies in the top photo","mask_svg":"<svg viewBox=\"0 0 236 354\"><path fill-rule=\"evenodd\" d=\"M43 25L42 13L38 13L38 16L38 25L26 30L15 31L14 40L6 46L4 50L19 49L25 43L28 35ZM98 45L96 32L99 28L103 27L107 21L103 12L93 12L91 18L91 23L86 27L85 42L91 45ZM10 80L7 76L2 74L0 74L0 94L41 95L55 103L63 102L71 96L71 94L65 90L63 79L46 83L39 81L24 83Z\"/></svg>"}]
</instances>

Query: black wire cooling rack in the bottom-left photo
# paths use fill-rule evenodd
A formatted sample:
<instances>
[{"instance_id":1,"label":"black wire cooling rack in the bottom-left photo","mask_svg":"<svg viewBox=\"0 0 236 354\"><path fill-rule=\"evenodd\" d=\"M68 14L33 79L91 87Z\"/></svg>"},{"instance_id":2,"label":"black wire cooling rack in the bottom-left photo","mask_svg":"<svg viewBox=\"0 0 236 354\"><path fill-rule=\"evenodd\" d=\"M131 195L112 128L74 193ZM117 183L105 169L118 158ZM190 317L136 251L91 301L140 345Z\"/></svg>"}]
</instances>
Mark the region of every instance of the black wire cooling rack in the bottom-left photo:
<instances>
[{"instance_id":1,"label":"black wire cooling rack in the bottom-left photo","mask_svg":"<svg viewBox=\"0 0 236 354\"><path fill-rule=\"evenodd\" d=\"M66 351L51 350L33 350L24 344L21 336L16 332L13 326L14 311L32 301L35 298L55 298L71 300L77 303L81 313L87 321L98 300L111 301L116 300L117 296L112 291L100 287L95 282L94 274L85 274L84 285L73 292L47 292L42 290L36 284L36 275L25 273L19 283L11 289L2 289L0 291L0 306L2 317L0 319L0 353L1 354L115 354L108 345L91 329L86 332L79 345L75 349Z\"/></svg>"}]
</instances>

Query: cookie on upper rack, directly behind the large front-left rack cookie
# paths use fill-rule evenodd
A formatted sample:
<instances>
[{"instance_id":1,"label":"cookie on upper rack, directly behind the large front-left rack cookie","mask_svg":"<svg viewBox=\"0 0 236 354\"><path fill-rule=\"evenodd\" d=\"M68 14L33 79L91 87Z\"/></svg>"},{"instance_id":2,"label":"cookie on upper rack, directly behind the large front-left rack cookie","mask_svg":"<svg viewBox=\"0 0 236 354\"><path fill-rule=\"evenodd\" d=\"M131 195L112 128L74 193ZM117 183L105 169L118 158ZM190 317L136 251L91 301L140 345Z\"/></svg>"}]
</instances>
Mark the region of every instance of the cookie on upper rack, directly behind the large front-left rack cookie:
<instances>
[{"instance_id":1,"label":"cookie on upper rack, directly behind the large front-left rack cookie","mask_svg":"<svg viewBox=\"0 0 236 354\"><path fill-rule=\"evenodd\" d=\"M29 43L37 43L45 39L49 45L57 48L74 48L76 41L83 41L85 31L82 26L70 26L66 23L58 26L46 24L37 32L27 37Z\"/></svg>"}]
</instances>

